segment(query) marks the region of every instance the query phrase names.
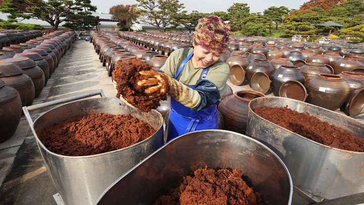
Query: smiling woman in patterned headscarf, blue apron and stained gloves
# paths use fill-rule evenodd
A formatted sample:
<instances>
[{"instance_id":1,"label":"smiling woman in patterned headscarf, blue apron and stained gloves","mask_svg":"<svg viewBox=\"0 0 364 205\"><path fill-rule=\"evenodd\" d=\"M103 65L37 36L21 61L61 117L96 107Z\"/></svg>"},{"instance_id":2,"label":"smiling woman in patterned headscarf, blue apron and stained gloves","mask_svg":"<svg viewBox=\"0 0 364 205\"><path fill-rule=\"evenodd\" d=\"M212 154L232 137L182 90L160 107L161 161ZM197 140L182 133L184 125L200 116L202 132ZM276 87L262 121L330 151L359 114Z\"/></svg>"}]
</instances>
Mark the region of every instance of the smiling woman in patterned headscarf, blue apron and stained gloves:
<instances>
[{"instance_id":1,"label":"smiling woman in patterned headscarf, blue apron and stained gloves","mask_svg":"<svg viewBox=\"0 0 364 205\"><path fill-rule=\"evenodd\" d=\"M163 73L138 82L156 85L146 93L171 95L167 141L195 130L218 129L216 103L229 76L229 66L220 56L228 46L230 25L208 16L199 20L193 34L194 48L175 50L160 68Z\"/></svg>"}]
</instances>

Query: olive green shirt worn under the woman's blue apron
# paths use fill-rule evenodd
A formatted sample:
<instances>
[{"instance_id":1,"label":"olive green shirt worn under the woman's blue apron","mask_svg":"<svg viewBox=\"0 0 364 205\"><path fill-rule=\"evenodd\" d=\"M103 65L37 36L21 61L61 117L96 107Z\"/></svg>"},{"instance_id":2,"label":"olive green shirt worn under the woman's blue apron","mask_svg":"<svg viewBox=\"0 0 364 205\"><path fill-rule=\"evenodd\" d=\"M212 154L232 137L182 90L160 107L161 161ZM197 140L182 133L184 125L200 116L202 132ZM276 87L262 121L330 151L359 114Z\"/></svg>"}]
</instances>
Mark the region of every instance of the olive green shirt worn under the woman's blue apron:
<instances>
[{"instance_id":1,"label":"olive green shirt worn under the woman's blue apron","mask_svg":"<svg viewBox=\"0 0 364 205\"><path fill-rule=\"evenodd\" d=\"M171 53L165 62L164 66L160 68L161 71L166 73L169 77L174 78L178 71L178 62L182 58L184 49L177 49ZM193 48L190 49L189 55L193 52ZM182 64L182 62L181 62ZM229 66L222 60L218 60L213 65L209 66L207 71L206 80L211 81L216 85L220 92L220 98L225 90L226 81L229 77ZM192 58L186 63L185 68L179 75L178 81L184 83L187 86L195 86L197 80L202 79L203 68L195 68L192 65Z\"/></svg>"}]
</instances>

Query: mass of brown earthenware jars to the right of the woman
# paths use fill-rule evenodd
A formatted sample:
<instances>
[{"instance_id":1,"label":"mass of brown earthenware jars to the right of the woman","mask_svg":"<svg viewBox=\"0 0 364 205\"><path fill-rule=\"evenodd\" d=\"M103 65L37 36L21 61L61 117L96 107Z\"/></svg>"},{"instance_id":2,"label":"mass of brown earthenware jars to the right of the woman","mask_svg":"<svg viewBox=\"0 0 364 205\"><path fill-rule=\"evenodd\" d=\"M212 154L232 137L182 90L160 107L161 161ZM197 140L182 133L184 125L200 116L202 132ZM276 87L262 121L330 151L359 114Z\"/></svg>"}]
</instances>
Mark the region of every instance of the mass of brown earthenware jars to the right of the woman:
<instances>
[{"instance_id":1,"label":"mass of brown earthenware jars to the right of the woman","mask_svg":"<svg viewBox=\"0 0 364 205\"><path fill-rule=\"evenodd\" d=\"M265 96L270 88L275 96L329 110L344 106L349 115L364 108L363 49L351 49L344 56L339 46L323 52L318 44L304 48L300 43L290 47L287 43L264 45L239 39L230 42L225 52L231 53L226 58L221 56L230 67L231 82L249 84L254 90L237 91L221 100L218 110L227 130L245 134L249 101Z\"/></svg>"}]
</instances>

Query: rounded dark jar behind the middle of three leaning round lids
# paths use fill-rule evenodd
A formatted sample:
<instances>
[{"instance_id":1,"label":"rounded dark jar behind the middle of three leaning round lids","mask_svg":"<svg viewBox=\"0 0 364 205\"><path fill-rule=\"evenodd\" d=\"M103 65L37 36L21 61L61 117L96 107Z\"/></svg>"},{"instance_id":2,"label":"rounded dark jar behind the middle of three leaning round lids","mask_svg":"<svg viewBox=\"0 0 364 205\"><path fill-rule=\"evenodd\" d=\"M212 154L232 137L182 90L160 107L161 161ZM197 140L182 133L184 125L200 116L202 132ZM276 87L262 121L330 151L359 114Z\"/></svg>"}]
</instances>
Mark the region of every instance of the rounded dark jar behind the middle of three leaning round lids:
<instances>
[{"instance_id":1,"label":"rounded dark jar behind the middle of three leaning round lids","mask_svg":"<svg viewBox=\"0 0 364 205\"><path fill-rule=\"evenodd\" d=\"M249 55L250 56L250 55ZM274 69L270 65L268 60L265 59L255 59L253 62L251 62L248 67L246 68L245 77L248 80L248 83L250 85L250 81L254 73L256 72L262 72L265 73L268 77L273 73ZM250 85L251 86L251 85Z\"/></svg>"}]
</instances>

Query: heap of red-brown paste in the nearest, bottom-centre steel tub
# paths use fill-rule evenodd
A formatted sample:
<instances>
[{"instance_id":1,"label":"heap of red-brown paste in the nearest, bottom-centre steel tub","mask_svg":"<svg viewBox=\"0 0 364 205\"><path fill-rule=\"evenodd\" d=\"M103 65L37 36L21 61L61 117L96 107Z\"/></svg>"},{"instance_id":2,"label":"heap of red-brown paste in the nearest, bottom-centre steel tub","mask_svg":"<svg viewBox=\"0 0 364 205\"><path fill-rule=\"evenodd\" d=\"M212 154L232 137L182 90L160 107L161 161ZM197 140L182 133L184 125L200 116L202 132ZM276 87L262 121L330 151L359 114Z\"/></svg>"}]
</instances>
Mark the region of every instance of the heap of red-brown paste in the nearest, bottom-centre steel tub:
<instances>
[{"instance_id":1,"label":"heap of red-brown paste in the nearest, bottom-centre steel tub","mask_svg":"<svg viewBox=\"0 0 364 205\"><path fill-rule=\"evenodd\" d=\"M222 169L217 172L205 167L195 176L184 176L177 187L160 196L154 205L230 205L262 204L260 193L254 192L242 179L243 173Z\"/></svg>"}]
</instances>

